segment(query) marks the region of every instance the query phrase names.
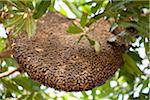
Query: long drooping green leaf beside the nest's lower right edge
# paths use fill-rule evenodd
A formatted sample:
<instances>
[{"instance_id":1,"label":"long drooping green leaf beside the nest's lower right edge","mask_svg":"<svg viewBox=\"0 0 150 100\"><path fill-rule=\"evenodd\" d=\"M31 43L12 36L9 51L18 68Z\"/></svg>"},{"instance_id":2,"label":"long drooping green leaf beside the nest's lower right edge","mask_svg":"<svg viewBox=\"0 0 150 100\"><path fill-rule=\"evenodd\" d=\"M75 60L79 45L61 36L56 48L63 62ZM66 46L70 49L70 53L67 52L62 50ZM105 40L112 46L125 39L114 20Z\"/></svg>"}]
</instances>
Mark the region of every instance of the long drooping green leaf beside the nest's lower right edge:
<instances>
[{"instance_id":1,"label":"long drooping green leaf beside the nest's lower right edge","mask_svg":"<svg viewBox=\"0 0 150 100\"><path fill-rule=\"evenodd\" d=\"M133 60L133 58L129 56L127 53L123 54L123 60L126 65L125 67L128 69L129 73L134 74L134 75L143 74L143 72L136 65L136 62Z\"/></svg>"}]
</instances>

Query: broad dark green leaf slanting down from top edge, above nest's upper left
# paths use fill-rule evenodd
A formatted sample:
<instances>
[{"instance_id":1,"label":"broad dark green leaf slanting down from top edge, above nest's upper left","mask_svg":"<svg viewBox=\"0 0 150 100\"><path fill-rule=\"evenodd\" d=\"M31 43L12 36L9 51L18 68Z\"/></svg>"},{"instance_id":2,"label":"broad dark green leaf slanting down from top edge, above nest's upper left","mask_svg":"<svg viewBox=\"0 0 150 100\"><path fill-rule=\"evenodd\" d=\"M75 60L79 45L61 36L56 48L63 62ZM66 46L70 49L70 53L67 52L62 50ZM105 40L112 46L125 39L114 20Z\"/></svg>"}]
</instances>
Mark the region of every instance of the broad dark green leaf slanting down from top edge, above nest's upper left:
<instances>
[{"instance_id":1,"label":"broad dark green leaf slanting down from top edge, above nest's upper left","mask_svg":"<svg viewBox=\"0 0 150 100\"><path fill-rule=\"evenodd\" d=\"M35 12L33 13L33 18L38 19L39 17L41 17L50 6L50 3L50 0L42 0L40 4L36 7Z\"/></svg>"}]
</instances>

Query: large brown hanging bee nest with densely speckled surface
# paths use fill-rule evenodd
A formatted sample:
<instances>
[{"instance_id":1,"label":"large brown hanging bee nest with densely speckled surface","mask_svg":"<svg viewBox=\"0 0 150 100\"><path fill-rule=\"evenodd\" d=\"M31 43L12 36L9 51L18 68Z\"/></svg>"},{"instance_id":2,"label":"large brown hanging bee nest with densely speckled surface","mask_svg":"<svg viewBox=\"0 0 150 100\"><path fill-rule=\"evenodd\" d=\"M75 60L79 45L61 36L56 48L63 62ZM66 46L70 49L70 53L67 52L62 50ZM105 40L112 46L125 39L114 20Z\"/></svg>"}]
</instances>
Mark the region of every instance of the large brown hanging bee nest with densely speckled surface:
<instances>
[{"instance_id":1,"label":"large brown hanging bee nest with densely speckled surface","mask_svg":"<svg viewBox=\"0 0 150 100\"><path fill-rule=\"evenodd\" d=\"M41 84L64 91L83 91L100 86L122 65L125 47L112 45L110 23L103 19L88 33L100 43L96 53L87 39L66 29L72 21L57 13L47 13L37 24L35 36L25 32L14 41L13 55L27 74Z\"/></svg>"}]
</instances>

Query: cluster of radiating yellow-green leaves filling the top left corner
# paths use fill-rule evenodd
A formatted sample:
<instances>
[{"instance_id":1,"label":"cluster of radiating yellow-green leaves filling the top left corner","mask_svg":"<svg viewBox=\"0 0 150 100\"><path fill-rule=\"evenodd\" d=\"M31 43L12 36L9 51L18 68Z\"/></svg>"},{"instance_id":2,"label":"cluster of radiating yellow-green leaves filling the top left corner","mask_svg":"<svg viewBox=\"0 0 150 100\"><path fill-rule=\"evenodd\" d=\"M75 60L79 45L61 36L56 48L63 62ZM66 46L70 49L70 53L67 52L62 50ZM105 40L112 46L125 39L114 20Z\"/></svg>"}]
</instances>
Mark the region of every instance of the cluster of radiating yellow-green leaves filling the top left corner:
<instances>
[{"instance_id":1,"label":"cluster of radiating yellow-green leaves filling the top left corner","mask_svg":"<svg viewBox=\"0 0 150 100\"><path fill-rule=\"evenodd\" d=\"M15 27L14 35L26 30L29 37L35 33L36 22L35 19L41 17L50 5L50 1L38 0L33 3L30 0L2 0L0 1L3 6L1 9L8 13L6 20L0 20L4 26ZM6 6L6 9L5 9ZM5 17L5 16L4 16Z\"/></svg>"}]
</instances>

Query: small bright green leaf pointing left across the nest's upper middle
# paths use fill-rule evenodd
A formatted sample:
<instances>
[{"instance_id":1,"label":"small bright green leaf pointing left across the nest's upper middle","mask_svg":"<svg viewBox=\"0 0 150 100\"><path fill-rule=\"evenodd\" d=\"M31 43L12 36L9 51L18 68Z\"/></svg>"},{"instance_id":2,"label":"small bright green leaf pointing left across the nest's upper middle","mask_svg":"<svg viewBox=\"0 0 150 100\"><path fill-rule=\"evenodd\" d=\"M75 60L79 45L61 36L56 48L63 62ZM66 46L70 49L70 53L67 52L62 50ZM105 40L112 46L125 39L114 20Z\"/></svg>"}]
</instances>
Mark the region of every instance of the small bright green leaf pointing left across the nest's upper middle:
<instances>
[{"instance_id":1,"label":"small bright green leaf pointing left across the nest's upper middle","mask_svg":"<svg viewBox=\"0 0 150 100\"><path fill-rule=\"evenodd\" d=\"M78 34L78 33L83 32L83 30L79 28L77 25L73 24L69 26L69 28L67 29L67 32L72 33L72 34Z\"/></svg>"}]
</instances>

